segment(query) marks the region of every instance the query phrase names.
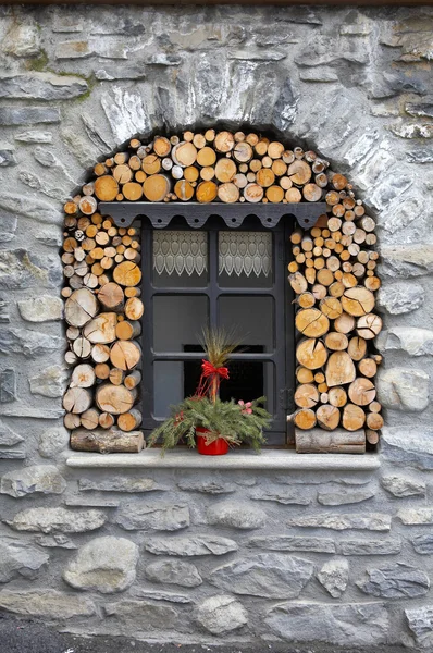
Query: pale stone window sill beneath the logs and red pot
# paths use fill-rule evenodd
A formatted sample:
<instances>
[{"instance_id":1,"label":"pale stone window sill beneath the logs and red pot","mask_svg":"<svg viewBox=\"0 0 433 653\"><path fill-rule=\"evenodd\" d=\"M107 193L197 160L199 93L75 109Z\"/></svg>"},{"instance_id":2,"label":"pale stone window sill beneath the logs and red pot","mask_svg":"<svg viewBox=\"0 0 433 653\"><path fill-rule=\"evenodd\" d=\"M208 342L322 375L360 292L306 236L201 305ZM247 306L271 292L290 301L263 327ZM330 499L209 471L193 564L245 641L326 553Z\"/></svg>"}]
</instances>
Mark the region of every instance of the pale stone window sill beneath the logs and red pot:
<instances>
[{"instance_id":1,"label":"pale stone window sill beneath the logs and red pot","mask_svg":"<svg viewBox=\"0 0 433 653\"><path fill-rule=\"evenodd\" d=\"M196 451L168 452L158 449L140 454L72 453L67 467L75 468L138 468L138 469L286 469L286 470L374 470L381 466L378 454L297 454L295 451L273 449L228 452L225 456L201 456Z\"/></svg>"}]
</instances>

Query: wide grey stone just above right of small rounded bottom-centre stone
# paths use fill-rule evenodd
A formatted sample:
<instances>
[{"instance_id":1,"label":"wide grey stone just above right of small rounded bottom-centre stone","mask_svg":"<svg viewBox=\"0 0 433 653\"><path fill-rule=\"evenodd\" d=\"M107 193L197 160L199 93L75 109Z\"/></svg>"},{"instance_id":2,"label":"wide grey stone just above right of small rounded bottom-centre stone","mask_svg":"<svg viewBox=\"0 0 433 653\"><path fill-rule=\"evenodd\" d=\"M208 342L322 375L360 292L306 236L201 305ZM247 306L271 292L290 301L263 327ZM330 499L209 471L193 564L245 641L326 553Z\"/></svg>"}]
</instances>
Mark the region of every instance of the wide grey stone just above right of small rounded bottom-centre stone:
<instances>
[{"instance_id":1,"label":"wide grey stone just above right of small rounded bottom-centre stone","mask_svg":"<svg viewBox=\"0 0 433 653\"><path fill-rule=\"evenodd\" d=\"M306 559L262 553L214 569L209 581L234 594L296 599L313 570L314 565Z\"/></svg>"}]
</instances>

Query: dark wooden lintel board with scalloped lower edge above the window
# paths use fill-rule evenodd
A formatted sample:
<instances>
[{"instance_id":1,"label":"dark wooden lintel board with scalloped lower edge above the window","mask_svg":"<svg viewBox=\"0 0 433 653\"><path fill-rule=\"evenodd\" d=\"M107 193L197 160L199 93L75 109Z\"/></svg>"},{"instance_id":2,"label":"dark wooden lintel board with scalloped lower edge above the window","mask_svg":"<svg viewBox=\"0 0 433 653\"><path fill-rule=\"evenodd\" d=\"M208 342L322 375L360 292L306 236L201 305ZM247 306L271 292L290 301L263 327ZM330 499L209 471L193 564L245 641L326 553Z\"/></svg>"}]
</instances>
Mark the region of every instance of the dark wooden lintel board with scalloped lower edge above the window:
<instances>
[{"instance_id":1,"label":"dark wooden lintel board with scalloped lower edge above the window","mask_svg":"<svg viewBox=\"0 0 433 653\"><path fill-rule=\"evenodd\" d=\"M325 202L299 204L198 204L148 201L99 204L102 215L111 215L116 226L131 226L137 218L148 218L154 229L164 229L177 215L185 218L193 229L200 229L208 218L220 215L228 227L236 229L250 215L259 218L263 226L274 227L282 218L295 218L302 229L314 226L319 217L326 212Z\"/></svg>"}]
</instances>

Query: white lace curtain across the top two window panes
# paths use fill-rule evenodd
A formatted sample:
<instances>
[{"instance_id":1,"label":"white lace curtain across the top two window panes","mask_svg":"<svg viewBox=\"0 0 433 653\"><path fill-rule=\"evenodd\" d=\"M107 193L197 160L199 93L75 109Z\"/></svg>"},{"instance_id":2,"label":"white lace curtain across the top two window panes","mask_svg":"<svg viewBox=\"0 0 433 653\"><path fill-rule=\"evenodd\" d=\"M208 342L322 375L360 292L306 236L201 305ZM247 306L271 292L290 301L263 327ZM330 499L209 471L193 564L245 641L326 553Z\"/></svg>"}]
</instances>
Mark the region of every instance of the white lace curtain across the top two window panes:
<instances>
[{"instance_id":1,"label":"white lace curtain across the top two window panes","mask_svg":"<svg viewBox=\"0 0 433 653\"><path fill-rule=\"evenodd\" d=\"M208 270L208 234L201 231L154 231L153 269L158 274L203 274ZM268 276L272 270L272 234L221 231L219 273Z\"/></svg>"}]
</instances>

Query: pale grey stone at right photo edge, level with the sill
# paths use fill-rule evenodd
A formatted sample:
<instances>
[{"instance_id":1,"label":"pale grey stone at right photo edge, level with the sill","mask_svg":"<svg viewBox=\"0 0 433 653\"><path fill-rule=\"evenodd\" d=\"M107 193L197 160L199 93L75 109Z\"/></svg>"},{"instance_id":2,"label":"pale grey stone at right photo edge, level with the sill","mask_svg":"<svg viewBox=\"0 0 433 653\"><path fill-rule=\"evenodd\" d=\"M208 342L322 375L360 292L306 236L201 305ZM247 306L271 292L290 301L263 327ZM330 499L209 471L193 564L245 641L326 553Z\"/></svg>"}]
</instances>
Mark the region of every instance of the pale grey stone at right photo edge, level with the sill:
<instances>
[{"instance_id":1,"label":"pale grey stone at right photo edge, level with the sill","mask_svg":"<svg viewBox=\"0 0 433 653\"><path fill-rule=\"evenodd\" d=\"M385 427L382 430L382 455L392 463L433 469L433 430Z\"/></svg>"}]
</instances>

